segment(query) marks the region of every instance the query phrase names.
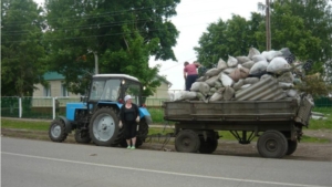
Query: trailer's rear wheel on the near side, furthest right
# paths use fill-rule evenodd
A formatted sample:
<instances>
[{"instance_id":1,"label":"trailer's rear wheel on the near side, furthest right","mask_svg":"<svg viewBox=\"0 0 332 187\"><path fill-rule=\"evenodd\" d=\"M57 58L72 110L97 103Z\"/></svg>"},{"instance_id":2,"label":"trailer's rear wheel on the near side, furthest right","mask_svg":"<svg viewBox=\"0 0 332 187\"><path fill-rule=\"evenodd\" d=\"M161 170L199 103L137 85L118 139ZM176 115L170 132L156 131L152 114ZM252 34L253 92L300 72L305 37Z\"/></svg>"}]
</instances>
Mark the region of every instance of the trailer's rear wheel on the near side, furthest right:
<instances>
[{"instance_id":1,"label":"trailer's rear wheel on the near side, furthest right","mask_svg":"<svg viewBox=\"0 0 332 187\"><path fill-rule=\"evenodd\" d=\"M278 131L267 131L258 138L257 149L262 157L281 158L288 150L287 138Z\"/></svg>"}]
</instances>

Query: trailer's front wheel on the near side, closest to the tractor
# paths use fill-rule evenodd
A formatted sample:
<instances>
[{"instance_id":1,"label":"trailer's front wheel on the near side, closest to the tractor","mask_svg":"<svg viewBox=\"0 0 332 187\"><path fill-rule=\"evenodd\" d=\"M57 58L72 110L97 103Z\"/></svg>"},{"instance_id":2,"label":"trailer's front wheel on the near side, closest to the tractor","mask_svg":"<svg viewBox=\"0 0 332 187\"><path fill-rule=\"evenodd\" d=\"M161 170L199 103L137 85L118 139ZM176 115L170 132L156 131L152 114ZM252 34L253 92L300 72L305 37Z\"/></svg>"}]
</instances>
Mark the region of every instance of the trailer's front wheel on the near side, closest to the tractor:
<instances>
[{"instance_id":1,"label":"trailer's front wheel on the near side, closest to the tractor","mask_svg":"<svg viewBox=\"0 0 332 187\"><path fill-rule=\"evenodd\" d=\"M200 147L200 139L197 133L191 129L180 131L175 138L175 149L184 153L197 153Z\"/></svg>"}]
</instances>

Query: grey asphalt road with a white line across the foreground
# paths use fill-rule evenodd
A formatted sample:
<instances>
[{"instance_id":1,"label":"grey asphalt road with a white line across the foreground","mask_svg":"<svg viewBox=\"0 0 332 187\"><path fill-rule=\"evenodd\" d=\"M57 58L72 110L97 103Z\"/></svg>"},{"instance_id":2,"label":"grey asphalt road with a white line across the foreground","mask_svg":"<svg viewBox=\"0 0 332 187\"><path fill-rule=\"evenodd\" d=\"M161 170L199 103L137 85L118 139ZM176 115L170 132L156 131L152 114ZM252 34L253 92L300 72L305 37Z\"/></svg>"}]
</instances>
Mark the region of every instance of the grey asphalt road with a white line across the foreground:
<instances>
[{"instance_id":1,"label":"grey asphalt road with a white line across the foreground","mask_svg":"<svg viewBox=\"0 0 332 187\"><path fill-rule=\"evenodd\" d=\"M331 162L1 138L2 187L321 187L331 176Z\"/></svg>"}]
</instances>

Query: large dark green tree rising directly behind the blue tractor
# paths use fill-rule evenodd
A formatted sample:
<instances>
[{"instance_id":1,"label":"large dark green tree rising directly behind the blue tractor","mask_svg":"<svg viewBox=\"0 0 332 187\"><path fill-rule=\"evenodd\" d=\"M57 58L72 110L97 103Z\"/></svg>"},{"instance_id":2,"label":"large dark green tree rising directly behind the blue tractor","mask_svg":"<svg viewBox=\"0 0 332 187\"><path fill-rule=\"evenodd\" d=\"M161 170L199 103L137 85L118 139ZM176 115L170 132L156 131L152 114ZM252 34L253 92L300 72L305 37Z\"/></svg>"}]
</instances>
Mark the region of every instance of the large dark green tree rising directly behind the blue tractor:
<instances>
[{"instance_id":1,"label":"large dark green tree rising directly behind the blue tractor","mask_svg":"<svg viewBox=\"0 0 332 187\"><path fill-rule=\"evenodd\" d=\"M175 59L172 46L178 31L168 20L176 14L179 0L46 0L49 62L51 70L65 76L65 83L94 70L98 56L100 73L126 73L137 76L154 91L151 82L158 67L148 67L148 58ZM83 84L71 84L82 92ZM79 85L79 86L77 86ZM151 93L151 92L148 92Z\"/></svg>"}]
</instances>

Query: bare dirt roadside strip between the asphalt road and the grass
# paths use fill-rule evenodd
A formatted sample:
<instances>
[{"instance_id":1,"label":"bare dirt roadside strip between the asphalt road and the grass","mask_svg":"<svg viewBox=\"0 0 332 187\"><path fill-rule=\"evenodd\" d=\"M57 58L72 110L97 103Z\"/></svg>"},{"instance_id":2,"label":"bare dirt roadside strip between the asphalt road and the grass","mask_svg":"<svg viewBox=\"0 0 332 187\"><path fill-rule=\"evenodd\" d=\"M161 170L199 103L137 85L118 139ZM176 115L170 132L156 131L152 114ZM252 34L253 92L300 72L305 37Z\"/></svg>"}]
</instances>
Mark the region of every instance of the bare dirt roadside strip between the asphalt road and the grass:
<instances>
[{"instance_id":1,"label":"bare dirt roadside strip between the asphalt road and the grass","mask_svg":"<svg viewBox=\"0 0 332 187\"><path fill-rule=\"evenodd\" d=\"M299 143L297 150L292 155L283 157L283 159L332 162L332 131L304 131L304 134L312 137L324 137L331 141L330 143L324 144ZM48 132L44 131L1 128L1 136L50 141ZM76 144L73 134L70 134L64 143ZM173 143L174 138L152 138L149 142L144 143L141 148L175 152ZM256 142L248 145L241 145L235 141L222 139L219 139L218 148L214 155L260 157L257 152Z\"/></svg>"}]
</instances>

